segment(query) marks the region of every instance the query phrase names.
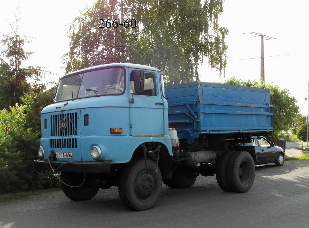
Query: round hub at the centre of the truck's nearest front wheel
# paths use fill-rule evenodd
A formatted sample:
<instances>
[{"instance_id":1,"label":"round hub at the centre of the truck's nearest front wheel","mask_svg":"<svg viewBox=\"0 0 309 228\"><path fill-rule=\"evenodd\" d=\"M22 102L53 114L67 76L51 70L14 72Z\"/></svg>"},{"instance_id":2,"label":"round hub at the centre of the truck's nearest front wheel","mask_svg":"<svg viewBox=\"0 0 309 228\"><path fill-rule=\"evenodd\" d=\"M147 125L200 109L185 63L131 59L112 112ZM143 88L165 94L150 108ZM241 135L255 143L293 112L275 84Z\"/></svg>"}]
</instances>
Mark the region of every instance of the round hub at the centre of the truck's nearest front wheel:
<instances>
[{"instance_id":1,"label":"round hub at the centre of the truck's nearest front wheel","mask_svg":"<svg viewBox=\"0 0 309 228\"><path fill-rule=\"evenodd\" d=\"M143 173L136 180L137 193L140 197L146 198L151 195L154 188L154 178L151 174Z\"/></svg>"}]
</instances>

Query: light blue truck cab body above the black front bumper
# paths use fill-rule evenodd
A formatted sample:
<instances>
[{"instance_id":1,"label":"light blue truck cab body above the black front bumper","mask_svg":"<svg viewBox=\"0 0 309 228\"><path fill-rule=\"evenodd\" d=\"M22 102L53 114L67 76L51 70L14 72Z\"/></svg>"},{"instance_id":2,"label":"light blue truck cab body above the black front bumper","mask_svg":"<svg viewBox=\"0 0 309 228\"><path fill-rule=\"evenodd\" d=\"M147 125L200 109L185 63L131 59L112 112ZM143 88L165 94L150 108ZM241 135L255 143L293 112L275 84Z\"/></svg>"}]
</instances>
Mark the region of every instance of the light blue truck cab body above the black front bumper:
<instances>
[{"instance_id":1,"label":"light blue truck cab body above the black front bumper","mask_svg":"<svg viewBox=\"0 0 309 228\"><path fill-rule=\"evenodd\" d=\"M137 71L144 89L134 89ZM41 158L53 150L61 162L126 163L141 141L160 142L172 155L160 74L136 64L104 64L62 77L55 103L41 113Z\"/></svg>"}]
</instances>

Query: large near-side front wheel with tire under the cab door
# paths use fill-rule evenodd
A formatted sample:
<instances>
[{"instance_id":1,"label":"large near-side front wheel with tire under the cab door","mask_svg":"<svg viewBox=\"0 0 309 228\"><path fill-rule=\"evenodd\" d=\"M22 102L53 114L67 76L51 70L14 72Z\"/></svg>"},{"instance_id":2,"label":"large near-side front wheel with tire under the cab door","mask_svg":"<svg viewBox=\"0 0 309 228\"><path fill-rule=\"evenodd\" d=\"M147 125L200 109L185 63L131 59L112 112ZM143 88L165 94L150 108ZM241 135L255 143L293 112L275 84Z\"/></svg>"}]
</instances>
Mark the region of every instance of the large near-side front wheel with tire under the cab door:
<instances>
[{"instance_id":1,"label":"large near-side front wheel with tire under the cab door","mask_svg":"<svg viewBox=\"0 0 309 228\"><path fill-rule=\"evenodd\" d=\"M156 163L146 159L149 172L156 171ZM130 161L121 171L118 182L118 193L123 204L132 210L148 210L159 199L162 189L160 169L157 173L147 173L145 159Z\"/></svg>"}]
</instances>

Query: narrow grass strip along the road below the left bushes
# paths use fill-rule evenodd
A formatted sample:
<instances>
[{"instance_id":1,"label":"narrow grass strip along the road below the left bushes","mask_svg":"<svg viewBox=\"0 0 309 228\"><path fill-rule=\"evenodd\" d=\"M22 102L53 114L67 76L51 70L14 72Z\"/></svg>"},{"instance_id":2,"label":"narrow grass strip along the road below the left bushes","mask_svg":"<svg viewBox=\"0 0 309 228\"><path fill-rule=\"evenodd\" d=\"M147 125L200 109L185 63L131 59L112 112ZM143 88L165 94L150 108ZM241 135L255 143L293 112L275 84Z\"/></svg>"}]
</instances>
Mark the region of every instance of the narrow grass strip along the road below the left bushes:
<instances>
[{"instance_id":1,"label":"narrow grass strip along the road below the left bushes","mask_svg":"<svg viewBox=\"0 0 309 228\"><path fill-rule=\"evenodd\" d=\"M61 189L43 189L43 190L36 190L36 191L25 191L25 192L1 194L0 195L0 203L20 200L20 199L24 199L24 198L38 196L38 195L41 195L41 194L47 194L47 193L59 192L59 191L61 191Z\"/></svg>"}]
</instances>

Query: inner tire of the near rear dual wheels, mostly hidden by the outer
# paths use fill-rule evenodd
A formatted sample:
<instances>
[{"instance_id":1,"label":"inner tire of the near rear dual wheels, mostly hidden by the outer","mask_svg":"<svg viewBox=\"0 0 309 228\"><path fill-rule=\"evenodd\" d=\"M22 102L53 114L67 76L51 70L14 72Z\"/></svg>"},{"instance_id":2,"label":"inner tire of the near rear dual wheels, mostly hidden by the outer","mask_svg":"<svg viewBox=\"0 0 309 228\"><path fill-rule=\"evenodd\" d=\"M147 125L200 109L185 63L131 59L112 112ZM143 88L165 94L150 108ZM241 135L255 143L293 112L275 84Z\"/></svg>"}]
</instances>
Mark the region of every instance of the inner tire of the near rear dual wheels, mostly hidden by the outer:
<instances>
[{"instance_id":1,"label":"inner tire of the near rear dual wheels, mostly hidden by the outer","mask_svg":"<svg viewBox=\"0 0 309 228\"><path fill-rule=\"evenodd\" d=\"M230 192L231 189L227 183L226 166L233 152L235 151L226 151L222 153L218 158L217 167L216 167L216 179L217 179L218 185L222 190L227 191L227 192Z\"/></svg>"}]
</instances>

